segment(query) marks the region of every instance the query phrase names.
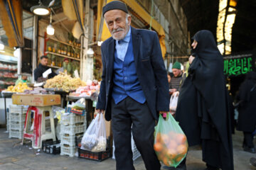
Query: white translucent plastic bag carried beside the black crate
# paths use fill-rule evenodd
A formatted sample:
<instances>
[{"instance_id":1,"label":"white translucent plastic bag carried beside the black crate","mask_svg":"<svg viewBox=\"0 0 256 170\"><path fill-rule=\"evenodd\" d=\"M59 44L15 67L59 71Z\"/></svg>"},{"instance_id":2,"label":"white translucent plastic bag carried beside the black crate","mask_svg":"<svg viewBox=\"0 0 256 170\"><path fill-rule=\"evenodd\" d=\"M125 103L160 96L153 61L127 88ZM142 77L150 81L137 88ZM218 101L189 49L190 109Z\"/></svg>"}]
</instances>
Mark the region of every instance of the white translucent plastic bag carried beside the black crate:
<instances>
[{"instance_id":1,"label":"white translucent plastic bag carried beside the black crate","mask_svg":"<svg viewBox=\"0 0 256 170\"><path fill-rule=\"evenodd\" d=\"M81 145L81 149L92 152L102 152L106 150L107 138L103 114L97 114L92 120L92 123L90 123L82 137Z\"/></svg>"}]
</instances>

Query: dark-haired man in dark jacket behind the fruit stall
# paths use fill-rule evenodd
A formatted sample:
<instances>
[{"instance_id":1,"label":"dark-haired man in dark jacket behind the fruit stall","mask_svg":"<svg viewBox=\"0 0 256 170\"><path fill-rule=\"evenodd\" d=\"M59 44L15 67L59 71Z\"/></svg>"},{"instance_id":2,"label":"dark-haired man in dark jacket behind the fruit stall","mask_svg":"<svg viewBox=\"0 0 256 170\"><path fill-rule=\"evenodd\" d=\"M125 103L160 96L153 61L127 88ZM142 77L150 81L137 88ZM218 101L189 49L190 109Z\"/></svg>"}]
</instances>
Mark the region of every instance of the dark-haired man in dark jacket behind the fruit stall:
<instances>
[{"instance_id":1,"label":"dark-haired man in dark jacket behind the fruit stall","mask_svg":"<svg viewBox=\"0 0 256 170\"><path fill-rule=\"evenodd\" d=\"M47 78L43 78L43 72L46 72L46 70L49 69L49 67L47 67L47 64L48 64L48 57L46 55L41 56L40 64L38 64L38 67L34 70L35 81L41 82L41 81L47 80ZM55 72L52 72L48 75L48 79L51 79L56 75L57 74L55 74Z\"/></svg>"}]
</instances>

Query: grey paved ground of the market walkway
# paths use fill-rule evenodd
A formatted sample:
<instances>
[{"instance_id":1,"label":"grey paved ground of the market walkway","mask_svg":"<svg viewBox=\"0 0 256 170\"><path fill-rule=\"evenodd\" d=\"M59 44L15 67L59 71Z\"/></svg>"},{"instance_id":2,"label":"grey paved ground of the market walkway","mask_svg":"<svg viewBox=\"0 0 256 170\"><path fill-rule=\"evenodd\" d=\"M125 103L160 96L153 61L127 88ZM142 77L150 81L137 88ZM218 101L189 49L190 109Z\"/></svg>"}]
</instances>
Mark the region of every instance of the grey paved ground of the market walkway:
<instances>
[{"instance_id":1,"label":"grey paved ground of the market walkway","mask_svg":"<svg viewBox=\"0 0 256 170\"><path fill-rule=\"evenodd\" d=\"M1 170L38 170L38 169L72 169L72 170L114 170L114 159L107 159L103 162L94 162L78 157L67 157L53 154L45 154L42 151L37 154L37 149L31 149L31 145L20 145L21 140L9 139L9 134L5 129L0 129L0 169ZM256 169L250 165L250 154L242 150L242 133L236 132L233 135L234 163L236 170ZM144 170L142 158L135 160L136 170ZM200 148L192 148L188 152L187 169L203 170L205 164L201 161Z\"/></svg>"}]
</instances>

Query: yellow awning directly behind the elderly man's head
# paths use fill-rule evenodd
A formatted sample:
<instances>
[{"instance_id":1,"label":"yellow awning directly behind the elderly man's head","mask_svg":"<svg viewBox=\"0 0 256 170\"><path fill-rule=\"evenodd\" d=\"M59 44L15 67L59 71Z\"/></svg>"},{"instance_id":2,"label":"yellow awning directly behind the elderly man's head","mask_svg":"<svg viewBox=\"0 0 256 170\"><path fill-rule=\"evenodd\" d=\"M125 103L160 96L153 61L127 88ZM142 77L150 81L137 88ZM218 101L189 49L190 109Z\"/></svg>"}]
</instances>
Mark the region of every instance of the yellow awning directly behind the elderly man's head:
<instances>
[{"instance_id":1,"label":"yellow awning directly behind the elderly man's head","mask_svg":"<svg viewBox=\"0 0 256 170\"><path fill-rule=\"evenodd\" d=\"M110 1L114 0L107 0L107 3ZM129 8L132 8L132 11L138 14L142 18L143 21L146 23L150 24L151 23L151 28L156 30L156 32L159 35L159 42L161 45L161 52L162 56L164 57L166 54L166 46L164 42L165 38L165 33L164 33L164 28L158 23L154 18L151 19L151 16L149 13L147 13L142 6L140 6L137 1L135 0L122 0ZM107 25L105 24L104 18L102 17L102 7L105 6L104 0L98 0L98 6L97 6L97 37L99 40L107 40L107 38L110 38L111 34L110 31L107 28ZM103 26L102 26L103 25ZM100 30L102 29L102 30Z\"/></svg>"}]
</instances>

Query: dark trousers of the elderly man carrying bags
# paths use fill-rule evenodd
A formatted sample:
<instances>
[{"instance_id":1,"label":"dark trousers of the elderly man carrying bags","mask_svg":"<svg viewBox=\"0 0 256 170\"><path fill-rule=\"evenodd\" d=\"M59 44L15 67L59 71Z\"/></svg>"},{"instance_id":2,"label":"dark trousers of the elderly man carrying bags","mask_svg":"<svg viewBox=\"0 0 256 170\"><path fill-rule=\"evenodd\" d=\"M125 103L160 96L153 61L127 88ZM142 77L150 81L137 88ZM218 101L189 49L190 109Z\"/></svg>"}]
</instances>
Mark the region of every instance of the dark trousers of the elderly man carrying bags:
<instances>
[{"instance_id":1,"label":"dark trousers of the elderly man carrying bags","mask_svg":"<svg viewBox=\"0 0 256 170\"><path fill-rule=\"evenodd\" d=\"M155 121L146 103L127 97L120 103L111 103L114 157L117 170L134 170L131 147L131 130L134 142L142 154L147 170L159 170L161 164L154 152ZM132 128L131 128L132 126Z\"/></svg>"}]
</instances>

